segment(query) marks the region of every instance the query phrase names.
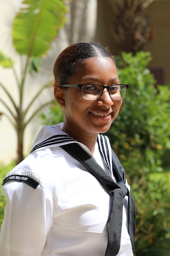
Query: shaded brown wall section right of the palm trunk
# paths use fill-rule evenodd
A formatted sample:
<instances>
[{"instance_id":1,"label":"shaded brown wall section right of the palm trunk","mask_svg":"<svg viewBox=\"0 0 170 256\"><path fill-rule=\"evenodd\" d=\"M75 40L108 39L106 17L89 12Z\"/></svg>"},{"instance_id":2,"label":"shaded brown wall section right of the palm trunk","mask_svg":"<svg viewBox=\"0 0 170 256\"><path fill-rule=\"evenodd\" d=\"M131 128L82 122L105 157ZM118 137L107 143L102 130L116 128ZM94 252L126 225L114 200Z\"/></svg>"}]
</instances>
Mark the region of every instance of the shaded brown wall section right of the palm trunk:
<instances>
[{"instance_id":1,"label":"shaded brown wall section right of the palm trunk","mask_svg":"<svg viewBox=\"0 0 170 256\"><path fill-rule=\"evenodd\" d=\"M151 68L162 69L165 84L170 84L170 0L154 1L147 9L151 19L153 39L145 50L152 53Z\"/></svg>"}]
</instances>

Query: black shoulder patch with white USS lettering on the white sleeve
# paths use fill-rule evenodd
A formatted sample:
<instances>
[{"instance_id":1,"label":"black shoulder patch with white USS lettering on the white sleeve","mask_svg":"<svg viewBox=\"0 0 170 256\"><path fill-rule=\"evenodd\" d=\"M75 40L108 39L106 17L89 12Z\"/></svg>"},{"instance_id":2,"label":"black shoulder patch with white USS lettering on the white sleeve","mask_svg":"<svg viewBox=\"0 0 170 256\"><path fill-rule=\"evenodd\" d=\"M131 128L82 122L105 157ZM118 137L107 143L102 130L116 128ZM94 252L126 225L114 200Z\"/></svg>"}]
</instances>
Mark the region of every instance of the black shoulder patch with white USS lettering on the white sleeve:
<instances>
[{"instance_id":1,"label":"black shoulder patch with white USS lettering on the white sleeve","mask_svg":"<svg viewBox=\"0 0 170 256\"><path fill-rule=\"evenodd\" d=\"M10 181L24 182L34 189L36 189L39 185L37 181L25 175L10 175L3 180L2 185Z\"/></svg>"}]
</instances>

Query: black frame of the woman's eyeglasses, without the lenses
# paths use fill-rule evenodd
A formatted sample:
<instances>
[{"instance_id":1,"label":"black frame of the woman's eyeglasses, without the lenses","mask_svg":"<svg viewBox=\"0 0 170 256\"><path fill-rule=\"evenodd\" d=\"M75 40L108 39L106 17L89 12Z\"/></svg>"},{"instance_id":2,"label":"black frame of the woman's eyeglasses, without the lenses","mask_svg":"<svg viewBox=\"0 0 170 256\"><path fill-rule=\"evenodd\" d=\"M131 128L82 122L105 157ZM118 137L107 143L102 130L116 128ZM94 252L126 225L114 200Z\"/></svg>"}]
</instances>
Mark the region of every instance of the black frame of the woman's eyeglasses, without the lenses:
<instances>
[{"instance_id":1,"label":"black frame of the woman's eyeglasses, without the lenses","mask_svg":"<svg viewBox=\"0 0 170 256\"><path fill-rule=\"evenodd\" d=\"M102 86L102 87L103 87L103 90L100 92L100 96L98 97L97 100L100 99L100 97L101 97L101 95L103 94L103 91L104 91L105 88L107 89L107 91L109 92L109 95L110 95L110 87L111 87L111 86L116 86L116 85L118 85L118 86L119 86L119 85L124 85L124 86L126 86L126 93L125 93L125 95L124 95L124 97L123 97L122 99L120 99L120 100L114 100L114 101L121 101L121 100L124 100L124 98L126 97L126 94L127 94L127 89L129 88L129 85L127 85L127 84L101 85L101 84L88 84L88 83L86 83L86 84L61 84L60 87L81 88L81 97L82 97L83 100L85 100L85 99L83 98L83 96L82 96L82 87L83 87L84 85L99 85L99 86ZM111 95L110 95L110 97L111 97ZM111 97L111 99L112 99L112 97ZM97 100L86 100L86 101L97 101ZM112 100L113 100L113 99L112 99Z\"/></svg>"}]
</instances>

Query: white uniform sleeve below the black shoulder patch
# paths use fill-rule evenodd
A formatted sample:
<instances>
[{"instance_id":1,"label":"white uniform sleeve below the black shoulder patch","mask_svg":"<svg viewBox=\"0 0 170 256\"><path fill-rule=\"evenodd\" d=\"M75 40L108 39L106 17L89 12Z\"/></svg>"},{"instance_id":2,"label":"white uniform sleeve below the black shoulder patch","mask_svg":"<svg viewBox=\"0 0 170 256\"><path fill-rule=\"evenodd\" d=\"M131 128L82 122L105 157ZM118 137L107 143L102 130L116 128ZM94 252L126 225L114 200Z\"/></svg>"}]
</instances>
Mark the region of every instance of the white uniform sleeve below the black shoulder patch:
<instances>
[{"instance_id":1,"label":"white uniform sleeve below the black shoulder patch","mask_svg":"<svg viewBox=\"0 0 170 256\"><path fill-rule=\"evenodd\" d=\"M36 189L23 182L7 182L0 252L5 256L39 256L53 222L53 200L47 186Z\"/></svg>"}]
</instances>

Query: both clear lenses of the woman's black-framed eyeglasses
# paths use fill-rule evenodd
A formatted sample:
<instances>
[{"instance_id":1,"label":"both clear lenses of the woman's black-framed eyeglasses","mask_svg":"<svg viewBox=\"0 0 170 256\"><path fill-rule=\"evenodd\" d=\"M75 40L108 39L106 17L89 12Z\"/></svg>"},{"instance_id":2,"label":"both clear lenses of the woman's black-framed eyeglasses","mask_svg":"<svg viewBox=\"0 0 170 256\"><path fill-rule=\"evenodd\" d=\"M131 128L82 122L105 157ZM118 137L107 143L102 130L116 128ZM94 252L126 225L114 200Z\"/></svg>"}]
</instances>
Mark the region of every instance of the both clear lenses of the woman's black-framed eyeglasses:
<instances>
[{"instance_id":1,"label":"both clear lenses of the woman's black-framed eyeglasses","mask_svg":"<svg viewBox=\"0 0 170 256\"><path fill-rule=\"evenodd\" d=\"M102 85L85 84L82 86L82 98L88 101L98 100L103 90ZM126 96L126 86L112 85L109 88L109 94L112 100L120 101Z\"/></svg>"}]
</instances>

